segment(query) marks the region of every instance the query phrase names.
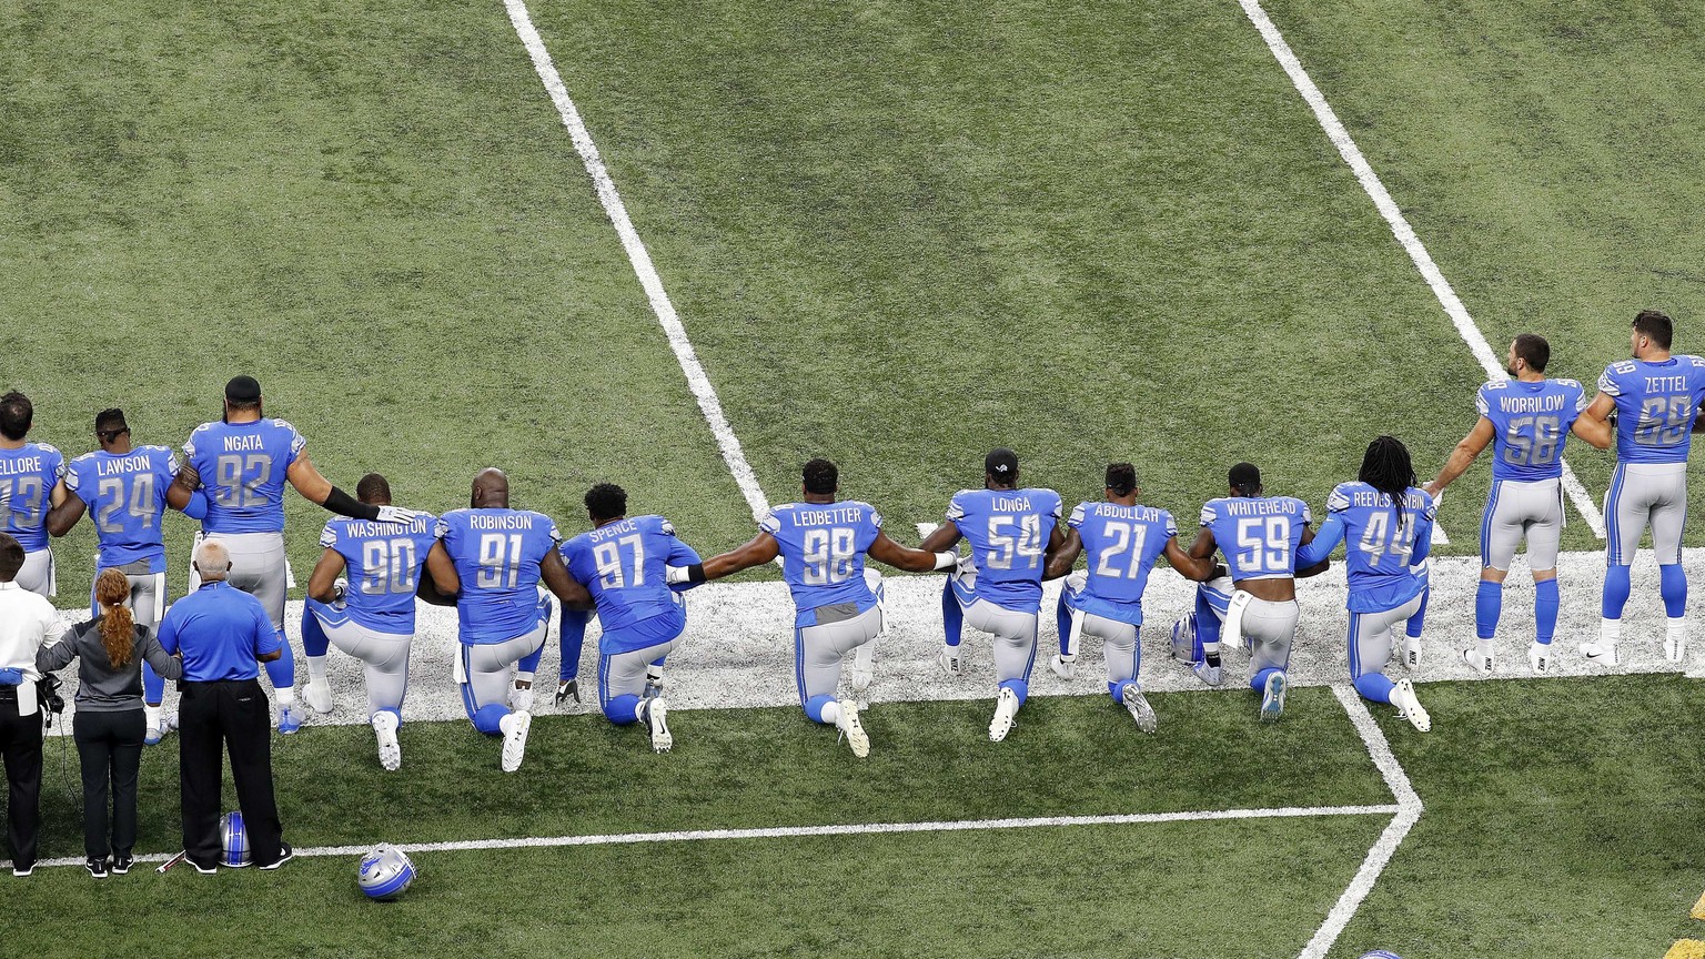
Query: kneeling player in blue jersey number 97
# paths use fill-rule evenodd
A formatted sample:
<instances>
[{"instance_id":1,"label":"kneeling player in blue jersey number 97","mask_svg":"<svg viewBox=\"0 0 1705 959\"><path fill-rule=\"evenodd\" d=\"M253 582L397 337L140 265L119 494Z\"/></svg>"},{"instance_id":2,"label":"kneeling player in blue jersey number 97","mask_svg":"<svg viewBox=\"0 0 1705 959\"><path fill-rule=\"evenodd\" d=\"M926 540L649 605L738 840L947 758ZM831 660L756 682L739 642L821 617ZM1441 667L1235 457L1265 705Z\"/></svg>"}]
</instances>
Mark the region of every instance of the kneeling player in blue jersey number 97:
<instances>
[{"instance_id":1,"label":"kneeling player in blue jersey number 97","mask_svg":"<svg viewBox=\"0 0 1705 959\"><path fill-rule=\"evenodd\" d=\"M699 555L660 515L627 517L627 491L614 483L587 490L592 529L563 544L563 561L598 607L598 705L616 725L651 730L651 749L668 753L668 701L662 669L687 631L687 604L668 585L668 567ZM648 683L648 677L656 683Z\"/></svg>"}]
</instances>

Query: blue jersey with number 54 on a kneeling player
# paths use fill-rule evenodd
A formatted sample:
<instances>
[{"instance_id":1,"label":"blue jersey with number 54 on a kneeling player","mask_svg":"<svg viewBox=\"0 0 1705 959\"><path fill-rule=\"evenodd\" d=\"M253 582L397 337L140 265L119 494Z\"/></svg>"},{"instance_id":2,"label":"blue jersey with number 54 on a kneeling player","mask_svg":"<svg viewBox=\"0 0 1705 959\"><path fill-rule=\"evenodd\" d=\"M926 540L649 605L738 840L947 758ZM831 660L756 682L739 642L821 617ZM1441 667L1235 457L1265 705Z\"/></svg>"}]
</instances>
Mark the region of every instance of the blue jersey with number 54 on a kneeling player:
<instances>
[{"instance_id":1,"label":"blue jersey with number 54 on a kneeling player","mask_svg":"<svg viewBox=\"0 0 1705 959\"><path fill-rule=\"evenodd\" d=\"M970 543L979 599L1035 613L1042 607L1042 555L1061 520L1054 490L960 490L948 520Z\"/></svg>"}]
</instances>

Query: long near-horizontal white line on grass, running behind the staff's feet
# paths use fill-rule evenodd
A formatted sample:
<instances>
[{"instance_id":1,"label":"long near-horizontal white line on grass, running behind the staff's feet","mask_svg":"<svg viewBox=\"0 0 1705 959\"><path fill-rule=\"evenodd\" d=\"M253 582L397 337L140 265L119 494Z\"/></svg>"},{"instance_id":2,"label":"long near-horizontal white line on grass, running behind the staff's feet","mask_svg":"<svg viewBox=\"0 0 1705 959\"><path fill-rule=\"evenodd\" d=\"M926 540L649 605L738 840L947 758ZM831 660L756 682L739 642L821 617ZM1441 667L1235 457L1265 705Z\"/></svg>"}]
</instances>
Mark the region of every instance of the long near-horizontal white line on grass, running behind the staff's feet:
<instances>
[{"instance_id":1,"label":"long near-horizontal white line on grass, running behind the staff's feet","mask_svg":"<svg viewBox=\"0 0 1705 959\"><path fill-rule=\"evenodd\" d=\"M883 833L967 833L979 829L1037 829L1047 826L1139 826L1151 822L1211 822L1221 819L1309 819L1316 816L1391 816L1396 805L1284 805L1277 809L1211 809L1192 812L1130 812L1118 816L1033 816L1026 819L951 819L945 822L849 822L842 826L771 826L764 829L687 829L680 833L609 833L597 836L520 836L513 840L459 840L448 843L396 843L409 853L469 850L525 850L554 846L624 846L638 843L699 843L714 840L793 840L805 836L870 836ZM372 846L315 846L298 857L358 857ZM143 862L172 855L150 853ZM36 865L84 865L82 857L48 858Z\"/></svg>"}]
</instances>

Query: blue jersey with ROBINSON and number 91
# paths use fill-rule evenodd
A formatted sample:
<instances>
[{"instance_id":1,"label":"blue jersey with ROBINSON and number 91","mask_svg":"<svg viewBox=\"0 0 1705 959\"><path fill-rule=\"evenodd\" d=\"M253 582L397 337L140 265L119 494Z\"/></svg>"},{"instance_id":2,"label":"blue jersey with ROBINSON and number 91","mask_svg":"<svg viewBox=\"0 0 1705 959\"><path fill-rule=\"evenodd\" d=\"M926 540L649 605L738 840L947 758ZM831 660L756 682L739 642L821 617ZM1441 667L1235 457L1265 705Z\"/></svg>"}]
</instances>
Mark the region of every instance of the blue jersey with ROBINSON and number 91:
<instances>
[{"instance_id":1,"label":"blue jersey with ROBINSON and number 91","mask_svg":"<svg viewBox=\"0 0 1705 959\"><path fill-rule=\"evenodd\" d=\"M450 510L438 517L462 592L455 599L464 643L501 643L539 626L539 561L563 538L544 514L512 509Z\"/></svg>"}]
</instances>

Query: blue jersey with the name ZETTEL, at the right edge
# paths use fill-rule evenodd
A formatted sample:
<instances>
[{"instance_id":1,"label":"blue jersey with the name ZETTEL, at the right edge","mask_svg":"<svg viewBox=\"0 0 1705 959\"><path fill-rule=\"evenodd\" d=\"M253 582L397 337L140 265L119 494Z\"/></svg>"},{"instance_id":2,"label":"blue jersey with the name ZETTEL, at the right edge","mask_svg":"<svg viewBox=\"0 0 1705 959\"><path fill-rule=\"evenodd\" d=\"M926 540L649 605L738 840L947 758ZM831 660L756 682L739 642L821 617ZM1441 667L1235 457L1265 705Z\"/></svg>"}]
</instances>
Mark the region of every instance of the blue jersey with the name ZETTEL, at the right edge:
<instances>
[{"instance_id":1,"label":"blue jersey with the name ZETTEL, at the right edge","mask_svg":"<svg viewBox=\"0 0 1705 959\"><path fill-rule=\"evenodd\" d=\"M1705 360L1686 353L1659 363L1618 360L1599 392L1616 401L1616 459L1686 462L1693 416L1705 399Z\"/></svg>"}]
</instances>

